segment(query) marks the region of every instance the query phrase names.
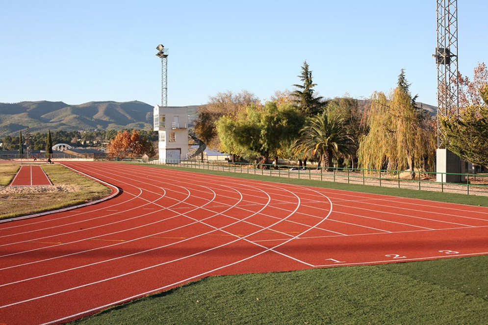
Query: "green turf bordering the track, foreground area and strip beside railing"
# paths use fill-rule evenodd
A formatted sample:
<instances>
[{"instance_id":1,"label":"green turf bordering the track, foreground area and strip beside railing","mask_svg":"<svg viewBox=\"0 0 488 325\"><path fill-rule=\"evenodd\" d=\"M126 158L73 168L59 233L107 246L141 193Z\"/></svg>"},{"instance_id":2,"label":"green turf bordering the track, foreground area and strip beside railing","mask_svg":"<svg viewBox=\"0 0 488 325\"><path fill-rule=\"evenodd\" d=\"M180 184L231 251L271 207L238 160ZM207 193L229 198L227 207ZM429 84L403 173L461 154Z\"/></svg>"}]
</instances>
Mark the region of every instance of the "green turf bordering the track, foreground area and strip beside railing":
<instances>
[{"instance_id":1,"label":"green turf bordering the track, foreground area and strip beside railing","mask_svg":"<svg viewBox=\"0 0 488 325\"><path fill-rule=\"evenodd\" d=\"M476 196L205 173L488 206ZM72 324L486 325L487 320L488 256L473 256L208 277Z\"/></svg>"}]
</instances>

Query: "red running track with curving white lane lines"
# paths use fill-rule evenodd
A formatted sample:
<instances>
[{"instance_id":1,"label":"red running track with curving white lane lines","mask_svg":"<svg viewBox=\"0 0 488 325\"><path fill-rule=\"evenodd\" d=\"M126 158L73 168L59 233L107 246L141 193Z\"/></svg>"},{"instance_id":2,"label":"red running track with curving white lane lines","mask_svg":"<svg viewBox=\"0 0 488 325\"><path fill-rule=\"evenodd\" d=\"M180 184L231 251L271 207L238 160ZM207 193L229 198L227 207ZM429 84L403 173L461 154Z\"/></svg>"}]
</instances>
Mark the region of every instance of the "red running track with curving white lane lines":
<instances>
[{"instance_id":1,"label":"red running track with curving white lane lines","mask_svg":"<svg viewBox=\"0 0 488 325\"><path fill-rule=\"evenodd\" d=\"M123 192L0 224L0 323L63 323L208 275L488 254L485 207L65 165Z\"/></svg>"}]
</instances>

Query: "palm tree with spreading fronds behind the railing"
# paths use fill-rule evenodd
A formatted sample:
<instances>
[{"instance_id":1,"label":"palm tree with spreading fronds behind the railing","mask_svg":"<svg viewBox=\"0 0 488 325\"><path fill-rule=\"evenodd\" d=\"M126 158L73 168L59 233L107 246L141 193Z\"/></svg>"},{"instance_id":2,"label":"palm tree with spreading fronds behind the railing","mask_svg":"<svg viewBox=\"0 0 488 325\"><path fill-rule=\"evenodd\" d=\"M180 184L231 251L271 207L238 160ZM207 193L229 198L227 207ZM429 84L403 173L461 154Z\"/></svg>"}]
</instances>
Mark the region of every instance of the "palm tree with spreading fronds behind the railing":
<instances>
[{"instance_id":1,"label":"palm tree with spreading fronds behind the railing","mask_svg":"<svg viewBox=\"0 0 488 325\"><path fill-rule=\"evenodd\" d=\"M338 117L330 120L327 112L308 120L293 147L295 156L303 154L305 158L310 153L318 155L321 166L328 171L331 170L333 157L351 156L354 149L354 141L346 133L344 120Z\"/></svg>"}]
</instances>

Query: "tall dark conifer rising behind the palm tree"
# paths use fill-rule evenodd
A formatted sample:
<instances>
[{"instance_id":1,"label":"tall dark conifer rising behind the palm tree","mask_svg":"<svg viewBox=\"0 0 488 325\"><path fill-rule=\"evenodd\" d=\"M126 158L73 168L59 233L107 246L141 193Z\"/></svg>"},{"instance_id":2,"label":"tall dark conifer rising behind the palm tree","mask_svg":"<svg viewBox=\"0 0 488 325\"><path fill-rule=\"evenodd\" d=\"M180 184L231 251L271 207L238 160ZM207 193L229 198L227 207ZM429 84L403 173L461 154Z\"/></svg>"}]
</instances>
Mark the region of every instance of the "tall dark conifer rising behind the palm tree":
<instances>
[{"instance_id":1,"label":"tall dark conifer rising behind the palm tree","mask_svg":"<svg viewBox=\"0 0 488 325\"><path fill-rule=\"evenodd\" d=\"M312 81L312 72L309 70L307 61L303 62L302 73L298 75L302 84L293 85L298 88L292 95L294 104L307 116L313 116L322 111L324 102L322 97L314 97L313 87L317 84Z\"/></svg>"}]
</instances>

